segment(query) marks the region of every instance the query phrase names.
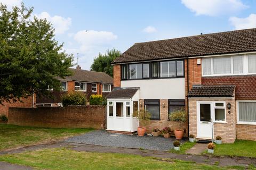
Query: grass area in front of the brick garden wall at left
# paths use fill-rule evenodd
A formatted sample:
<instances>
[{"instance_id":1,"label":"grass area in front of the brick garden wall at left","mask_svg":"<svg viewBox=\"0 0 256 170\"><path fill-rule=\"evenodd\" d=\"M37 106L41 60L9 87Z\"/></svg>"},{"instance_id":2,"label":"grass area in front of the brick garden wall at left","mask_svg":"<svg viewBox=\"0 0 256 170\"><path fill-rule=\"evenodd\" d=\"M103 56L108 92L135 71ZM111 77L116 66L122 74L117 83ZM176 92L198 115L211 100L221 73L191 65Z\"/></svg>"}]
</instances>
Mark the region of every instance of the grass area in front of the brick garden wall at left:
<instances>
[{"instance_id":1,"label":"grass area in front of the brick garden wall at left","mask_svg":"<svg viewBox=\"0 0 256 170\"><path fill-rule=\"evenodd\" d=\"M93 129L33 128L0 124L0 150L53 142Z\"/></svg>"}]
</instances>

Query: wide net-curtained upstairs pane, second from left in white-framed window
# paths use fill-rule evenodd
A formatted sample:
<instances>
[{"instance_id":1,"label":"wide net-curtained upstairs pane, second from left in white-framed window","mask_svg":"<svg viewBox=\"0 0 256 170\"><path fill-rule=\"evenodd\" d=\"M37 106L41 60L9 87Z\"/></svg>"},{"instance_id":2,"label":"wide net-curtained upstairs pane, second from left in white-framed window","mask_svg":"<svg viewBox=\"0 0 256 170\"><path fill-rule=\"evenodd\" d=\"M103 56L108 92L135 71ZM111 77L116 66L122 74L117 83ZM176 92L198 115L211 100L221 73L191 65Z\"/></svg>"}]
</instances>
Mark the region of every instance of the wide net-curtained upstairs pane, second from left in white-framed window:
<instances>
[{"instance_id":1,"label":"wide net-curtained upstairs pane, second from left in white-framed window","mask_svg":"<svg viewBox=\"0 0 256 170\"><path fill-rule=\"evenodd\" d=\"M214 72L214 74L231 73L230 57L213 58L213 72Z\"/></svg>"}]
</instances>

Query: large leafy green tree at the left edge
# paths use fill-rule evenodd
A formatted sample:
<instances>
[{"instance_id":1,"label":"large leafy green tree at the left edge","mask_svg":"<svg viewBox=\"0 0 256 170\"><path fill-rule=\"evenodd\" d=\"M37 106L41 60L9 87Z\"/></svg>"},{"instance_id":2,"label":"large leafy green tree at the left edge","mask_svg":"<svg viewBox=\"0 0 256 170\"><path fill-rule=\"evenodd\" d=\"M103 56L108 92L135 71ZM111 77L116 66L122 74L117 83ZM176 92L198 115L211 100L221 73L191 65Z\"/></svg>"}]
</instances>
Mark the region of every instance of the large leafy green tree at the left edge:
<instances>
[{"instance_id":1,"label":"large leafy green tree at the left edge","mask_svg":"<svg viewBox=\"0 0 256 170\"><path fill-rule=\"evenodd\" d=\"M34 93L49 95L60 89L56 77L70 75L73 55L54 39L54 28L45 19L32 18L33 8L0 4L0 104Z\"/></svg>"}]
</instances>

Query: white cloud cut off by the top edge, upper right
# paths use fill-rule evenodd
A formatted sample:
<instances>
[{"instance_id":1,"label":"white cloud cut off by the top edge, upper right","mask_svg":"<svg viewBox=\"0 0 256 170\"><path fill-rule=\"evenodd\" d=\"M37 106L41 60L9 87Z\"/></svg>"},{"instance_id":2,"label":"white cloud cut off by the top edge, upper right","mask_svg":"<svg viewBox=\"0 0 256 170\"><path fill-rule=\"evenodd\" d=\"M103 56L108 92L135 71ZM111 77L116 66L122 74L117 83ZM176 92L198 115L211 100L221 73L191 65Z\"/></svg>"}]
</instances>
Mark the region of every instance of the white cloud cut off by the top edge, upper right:
<instances>
[{"instance_id":1,"label":"white cloud cut off by the top edge, upper right","mask_svg":"<svg viewBox=\"0 0 256 170\"><path fill-rule=\"evenodd\" d=\"M217 16L241 11L249 6L241 0L181 0L196 15Z\"/></svg>"}]
</instances>

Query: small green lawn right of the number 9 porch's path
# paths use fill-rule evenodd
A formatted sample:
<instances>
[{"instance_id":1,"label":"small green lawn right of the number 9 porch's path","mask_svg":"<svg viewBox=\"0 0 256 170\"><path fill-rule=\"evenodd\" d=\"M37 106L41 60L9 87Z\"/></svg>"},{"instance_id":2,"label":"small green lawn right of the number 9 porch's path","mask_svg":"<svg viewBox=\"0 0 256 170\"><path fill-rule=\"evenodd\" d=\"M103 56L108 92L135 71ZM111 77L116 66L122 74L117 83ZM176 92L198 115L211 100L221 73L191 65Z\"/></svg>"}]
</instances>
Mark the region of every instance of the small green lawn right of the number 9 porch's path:
<instances>
[{"instance_id":1,"label":"small green lawn right of the number 9 porch's path","mask_svg":"<svg viewBox=\"0 0 256 170\"><path fill-rule=\"evenodd\" d=\"M256 157L256 141L236 140L235 143L216 145L214 155Z\"/></svg>"}]
</instances>

